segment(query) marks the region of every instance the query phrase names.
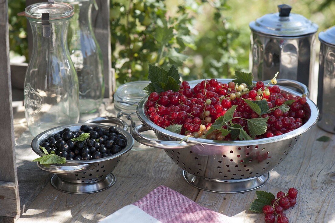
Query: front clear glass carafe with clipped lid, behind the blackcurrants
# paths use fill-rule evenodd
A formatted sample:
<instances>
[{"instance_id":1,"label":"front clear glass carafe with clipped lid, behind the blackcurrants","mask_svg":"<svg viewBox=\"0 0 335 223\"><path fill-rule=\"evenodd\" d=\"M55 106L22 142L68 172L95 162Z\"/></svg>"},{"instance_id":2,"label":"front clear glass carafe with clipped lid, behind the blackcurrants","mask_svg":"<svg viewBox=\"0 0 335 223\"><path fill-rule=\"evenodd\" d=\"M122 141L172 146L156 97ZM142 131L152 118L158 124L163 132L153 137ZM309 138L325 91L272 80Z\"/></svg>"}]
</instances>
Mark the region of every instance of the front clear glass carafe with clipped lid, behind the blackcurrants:
<instances>
[{"instance_id":1,"label":"front clear glass carafe with clipped lid, behind the blackcurrants","mask_svg":"<svg viewBox=\"0 0 335 223\"><path fill-rule=\"evenodd\" d=\"M34 48L24 81L25 118L32 135L79 120L76 70L67 46L73 7L37 3L26 7Z\"/></svg>"}]
</instances>

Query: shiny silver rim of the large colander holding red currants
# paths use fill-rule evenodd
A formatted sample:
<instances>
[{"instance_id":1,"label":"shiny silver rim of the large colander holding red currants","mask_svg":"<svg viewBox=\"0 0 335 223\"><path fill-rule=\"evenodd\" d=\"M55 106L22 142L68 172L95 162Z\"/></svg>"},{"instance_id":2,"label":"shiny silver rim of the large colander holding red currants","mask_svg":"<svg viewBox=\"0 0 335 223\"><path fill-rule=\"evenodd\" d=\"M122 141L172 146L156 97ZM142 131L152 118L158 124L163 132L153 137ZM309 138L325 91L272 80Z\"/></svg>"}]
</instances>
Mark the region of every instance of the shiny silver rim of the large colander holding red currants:
<instances>
[{"instance_id":1,"label":"shiny silver rim of the large colander holding red currants","mask_svg":"<svg viewBox=\"0 0 335 223\"><path fill-rule=\"evenodd\" d=\"M200 80L193 80L193 81L189 81L189 84L191 87L193 87L196 83L202 81L204 79L200 79ZM229 81L231 81L232 79L217 79L220 82L223 83L227 83ZM278 79L279 80L279 79ZM279 81L278 81L279 82ZM296 81L295 81L296 82ZM282 87L280 86L280 89L290 93L294 96L297 95L301 95L296 91L293 91L289 88L286 87ZM158 125L156 125L155 123L153 123L144 113L144 108L145 108L145 103L148 99L148 96L144 97L139 104L137 105L137 116L138 118L141 120L141 122L143 124L145 124L147 127L149 127L150 129L159 132L161 134L164 134L166 136L175 138L177 140L182 140L183 138L185 138L185 135L181 135L181 134L177 134L171 131L168 131L162 127L159 127ZM297 135L300 135L304 132L306 132L307 130L309 130L318 120L319 118L319 110L318 107L314 104L313 101L311 101L309 98L307 99L307 103L310 106L311 109L311 115L310 118L308 119L308 121L302 125L301 127L289 132L289 133L285 133L282 135L278 135L278 136L273 136L271 138L262 138L259 140L245 140L245 141L217 141L217 140L207 140L207 139L202 139L202 138L194 138L194 137L189 137L187 140L184 140L185 142L189 142L189 143L197 143L197 144L203 144L203 145L213 145L213 146L251 146L251 145L260 145L260 144L265 144L265 143L274 143L280 140L286 140L292 137L295 137Z\"/></svg>"}]
</instances>

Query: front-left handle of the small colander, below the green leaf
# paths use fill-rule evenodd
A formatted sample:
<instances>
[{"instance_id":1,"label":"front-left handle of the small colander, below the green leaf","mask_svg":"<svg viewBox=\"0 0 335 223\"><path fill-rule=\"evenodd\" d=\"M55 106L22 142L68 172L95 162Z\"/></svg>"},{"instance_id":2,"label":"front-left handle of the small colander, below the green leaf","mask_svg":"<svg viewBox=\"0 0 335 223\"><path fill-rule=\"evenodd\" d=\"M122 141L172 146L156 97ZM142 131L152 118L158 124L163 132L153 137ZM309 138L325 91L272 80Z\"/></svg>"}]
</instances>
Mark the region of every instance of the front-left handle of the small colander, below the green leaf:
<instances>
[{"instance_id":1,"label":"front-left handle of the small colander, below the green leaf","mask_svg":"<svg viewBox=\"0 0 335 223\"><path fill-rule=\"evenodd\" d=\"M41 170L48 171L50 173L55 173L55 174L70 174L70 173L79 173L86 171L88 169L94 169L97 167L96 163L85 163L77 166L57 166L57 165L51 165L51 164L40 164L39 162L37 163L37 166Z\"/></svg>"}]
</instances>

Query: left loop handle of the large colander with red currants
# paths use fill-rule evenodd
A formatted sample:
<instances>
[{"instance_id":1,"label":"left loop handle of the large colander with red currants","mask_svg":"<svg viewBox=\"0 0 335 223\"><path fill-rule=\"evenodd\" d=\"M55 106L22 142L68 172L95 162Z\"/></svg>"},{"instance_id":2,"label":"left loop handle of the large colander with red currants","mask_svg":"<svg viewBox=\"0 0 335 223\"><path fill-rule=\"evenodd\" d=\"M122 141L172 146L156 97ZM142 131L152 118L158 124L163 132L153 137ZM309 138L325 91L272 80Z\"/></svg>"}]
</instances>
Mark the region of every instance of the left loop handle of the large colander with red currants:
<instances>
[{"instance_id":1,"label":"left loop handle of the large colander with red currants","mask_svg":"<svg viewBox=\"0 0 335 223\"><path fill-rule=\"evenodd\" d=\"M150 146L150 147L156 147L159 149L184 149L188 147L192 147L196 145L196 143L188 143L188 142L179 142L179 141L160 141L153 138L146 137L141 134L141 132L151 130L145 125L138 125L134 128L132 135L134 139L139 142L140 144Z\"/></svg>"}]
</instances>

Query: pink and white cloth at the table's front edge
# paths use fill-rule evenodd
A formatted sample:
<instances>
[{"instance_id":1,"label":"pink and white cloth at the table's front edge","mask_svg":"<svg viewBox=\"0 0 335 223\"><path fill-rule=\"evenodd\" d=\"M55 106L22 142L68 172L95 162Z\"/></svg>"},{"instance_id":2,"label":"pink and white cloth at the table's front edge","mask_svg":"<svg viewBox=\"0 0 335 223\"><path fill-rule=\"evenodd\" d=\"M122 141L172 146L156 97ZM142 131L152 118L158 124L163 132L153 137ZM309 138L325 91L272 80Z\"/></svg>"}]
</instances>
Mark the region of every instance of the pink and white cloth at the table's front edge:
<instances>
[{"instance_id":1,"label":"pink and white cloth at the table's front edge","mask_svg":"<svg viewBox=\"0 0 335 223\"><path fill-rule=\"evenodd\" d=\"M199 206L166 186L159 186L139 201L127 205L100 223L227 223L230 217Z\"/></svg>"}]
</instances>

